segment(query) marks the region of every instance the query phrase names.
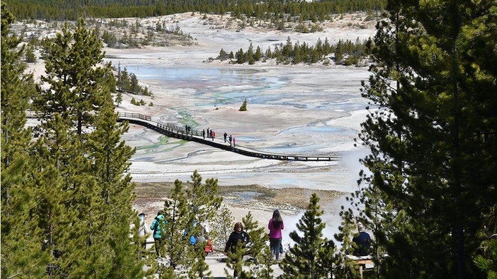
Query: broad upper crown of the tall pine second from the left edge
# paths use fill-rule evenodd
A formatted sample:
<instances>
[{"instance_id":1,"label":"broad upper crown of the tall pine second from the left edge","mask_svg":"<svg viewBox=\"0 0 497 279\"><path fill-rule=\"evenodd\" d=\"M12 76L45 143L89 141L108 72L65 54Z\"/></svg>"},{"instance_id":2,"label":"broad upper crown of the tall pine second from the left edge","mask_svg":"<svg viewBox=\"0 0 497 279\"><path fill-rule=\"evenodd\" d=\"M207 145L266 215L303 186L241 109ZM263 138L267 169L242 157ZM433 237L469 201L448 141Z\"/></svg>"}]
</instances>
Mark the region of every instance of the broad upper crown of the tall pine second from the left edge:
<instances>
[{"instance_id":1,"label":"broad upper crown of the tall pine second from the left edge","mask_svg":"<svg viewBox=\"0 0 497 279\"><path fill-rule=\"evenodd\" d=\"M78 20L74 34L64 25L50 45L50 55L45 60L47 75L41 77L50 87L34 101L39 111L68 117L78 135L84 125L95 121L91 111L98 110L102 102L102 84L98 81L106 69L95 67L103 59L101 47L101 41L86 28L83 19Z\"/></svg>"}]
</instances>

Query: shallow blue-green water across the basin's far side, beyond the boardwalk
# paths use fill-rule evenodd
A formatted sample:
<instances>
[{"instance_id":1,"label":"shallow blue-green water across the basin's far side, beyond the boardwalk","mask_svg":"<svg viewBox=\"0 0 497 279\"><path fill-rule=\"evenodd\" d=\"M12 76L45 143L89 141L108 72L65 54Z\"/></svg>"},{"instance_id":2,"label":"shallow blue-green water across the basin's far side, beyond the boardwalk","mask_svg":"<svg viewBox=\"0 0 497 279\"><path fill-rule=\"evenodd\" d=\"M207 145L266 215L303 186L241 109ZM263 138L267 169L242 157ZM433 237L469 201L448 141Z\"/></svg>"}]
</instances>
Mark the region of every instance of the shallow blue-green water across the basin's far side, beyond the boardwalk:
<instances>
[{"instance_id":1,"label":"shallow blue-green water across the basin's far side, beyond the boardwalk","mask_svg":"<svg viewBox=\"0 0 497 279\"><path fill-rule=\"evenodd\" d=\"M151 65L126 68L139 79L160 81L166 88L194 89L195 91L190 92L189 96L198 100L195 107L239 104L244 99L250 104L286 105L316 110L353 111L366 106L365 101L357 101L360 97L358 92L360 81L343 81L341 76L329 76L323 80L323 82L345 83L344 88L337 90L335 94L323 84L302 92L285 90L292 86L289 80L292 76L265 76L266 71L263 70ZM239 89L240 86L243 88ZM176 109L188 108L191 107Z\"/></svg>"}]
</instances>

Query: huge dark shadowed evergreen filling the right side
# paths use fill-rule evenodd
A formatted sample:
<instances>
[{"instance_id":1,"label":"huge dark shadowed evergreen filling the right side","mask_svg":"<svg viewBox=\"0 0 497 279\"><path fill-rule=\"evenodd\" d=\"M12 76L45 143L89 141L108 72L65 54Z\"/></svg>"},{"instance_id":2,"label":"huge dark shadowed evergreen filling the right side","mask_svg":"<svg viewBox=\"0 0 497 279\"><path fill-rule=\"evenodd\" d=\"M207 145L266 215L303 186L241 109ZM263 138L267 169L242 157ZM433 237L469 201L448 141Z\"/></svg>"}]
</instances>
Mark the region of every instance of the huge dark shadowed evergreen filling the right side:
<instances>
[{"instance_id":1,"label":"huge dark shadowed evergreen filling the right side","mask_svg":"<svg viewBox=\"0 0 497 279\"><path fill-rule=\"evenodd\" d=\"M398 220L378 237L386 276L481 276L470 255L497 226L485 218L497 200L492 9L391 1L378 24L364 96L380 109L361 140L372 152L364 160L378 190L372 205L391 206Z\"/></svg>"}]
</instances>

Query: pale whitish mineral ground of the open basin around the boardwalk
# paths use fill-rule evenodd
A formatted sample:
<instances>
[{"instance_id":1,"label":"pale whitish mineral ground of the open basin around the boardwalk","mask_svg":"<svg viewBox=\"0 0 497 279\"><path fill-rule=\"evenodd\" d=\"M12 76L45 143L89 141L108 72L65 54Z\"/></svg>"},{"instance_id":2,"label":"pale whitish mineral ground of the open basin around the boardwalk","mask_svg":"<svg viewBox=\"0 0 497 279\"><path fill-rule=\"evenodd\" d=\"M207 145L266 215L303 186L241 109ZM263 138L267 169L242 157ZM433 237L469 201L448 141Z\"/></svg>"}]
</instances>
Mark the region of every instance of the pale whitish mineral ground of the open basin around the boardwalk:
<instances>
[{"instance_id":1,"label":"pale whitish mineral ground of the open basin around the boardwalk","mask_svg":"<svg viewBox=\"0 0 497 279\"><path fill-rule=\"evenodd\" d=\"M132 158L130 174L134 181L174 181L189 178L198 169L204 178L216 177L220 187L224 185L260 184L270 188L297 187L322 190L337 190L352 192L357 189L355 180L361 169L358 159L367 154L367 150L353 147L353 139L360 130L360 123L365 119L365 100L361 98L360 80L367 80L367 68L355 68L322 65L276 65L274 61L256 65L226 65L219 61L204 63L208 57L215 57L219 49L236 51L246 49L250 42L254 47L285 43L288 36L293 42L308 42L314 44L318 38L330 43L339 39L355 41L374 36L374 22L367 22L365 29L348 26L348 22L363 23L362 15L346 15L343 20L335 17L333 22L323 24L323 32L299 34L267 30L262 27L246 27L236 32L234 28L219 28L228 20L225 17L209 15L214 18L203 20L200 14L191 16L190 13L160 17L166 20L168 26L178 24L180 28L197 39L198 45L152 47L141 49L109 49L105 48L107 61L114 66L147 67L147 69L163 68L178 69L179 71L197 71L188 80L157 79L157 77L139 76L142 85L149 86L154 97L123 95L123 102L118 111L139 112L151 115L153 120L178 123L187 113L188 121L197 123L197 128L213 128L216 137L224 131L236 137L247 137L238 141L239 144L251 148L282 147L282 150L295 152L335 153L339 152L342 159L334 162L282 162L263 160L240 156L232 152L217 150L194 142L164 138L149 129L130 125L129 133L124 136L126 142L136 146L137 152ZM155 22L159 18L140 19ZM134 22L135 19L127 19ZM204 22L207 22L204 25ZM155 68L154 68L155 67ZM206 73L226 70L228 73L202 76ZM42 60L30 64L35 80L44 72ZM221 71L221 70L219 70ZM238 72L237 72L238 71ZM171 73L171 72L168 72ZM217 80L217 77L229 76L232 80ZM269 88L251 95L252 90L260 89L265 84ZM236 101L216 104L213 100L216 94L229 93L234 90L242 92ZM222 95L223 96L223 95ZM243 98L266 98L275 101L262 101L248 105L247 112L239 112ZM329 96L332 96L330 98ZM131 98L143 99L154 106L134 106ZM255 98L254 97L254 98ZM198 106L199 103L206 103ZM335 109L322 109L323 105L333 103ZM196 106L197 105L197 106ZM217 109L216 109L217 108ZM299 129L306 127L336 127L343 128L342 132L316 133L310 137L302 134ZM294 129L294 130L292 130ZM299 132L292 132L299 131ZM352 132L351 132L352 131ZM288 149L291 147L290 149ZM293 149L292 149L293 148ZM272 150L275 151L275 150ZM250 189L247 189L250 191ZM227 202L236 221L247 212L247 208ZM323 220L328 224L325 235L331 238L337 232L340 222L338 213L341 205L347 205L344 198L339 198L330 204L322 204L325 210ZM156 211L163 206L162 202L148 204L147 208ZM273 208L250 208L256 220L266 226ZM285 231L284 242L290 243L288 233L295 229L295 223L301 215L296 211L284 212ZM153 216L147 216L150 218ZM150 223L149 223L150 224ZM215 277L224 277L224 263L216 259L208 259L210 269ZM278 268L275 268L275 272Z\"/></svg>"}]
</instances>

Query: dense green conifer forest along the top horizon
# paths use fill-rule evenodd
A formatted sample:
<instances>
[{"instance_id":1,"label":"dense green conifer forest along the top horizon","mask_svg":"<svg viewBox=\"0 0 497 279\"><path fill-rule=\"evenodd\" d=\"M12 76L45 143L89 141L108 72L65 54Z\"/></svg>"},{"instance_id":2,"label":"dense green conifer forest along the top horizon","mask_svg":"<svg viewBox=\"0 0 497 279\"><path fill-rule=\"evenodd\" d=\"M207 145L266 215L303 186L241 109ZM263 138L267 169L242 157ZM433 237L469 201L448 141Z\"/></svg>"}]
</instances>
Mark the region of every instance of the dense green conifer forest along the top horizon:
<instances>
[{"instance_id":1,"label":"dense green conifer forest along the top horizon","mask_svg":"<svg viewBox=\"0 0 497 279\"><path fill-rule=\"evenodd\" d=\"M248 1L248 0L10 0L7 7L17 20L57 19L74 20L79 16L97 18L151 17L184 12L210 14L244 14L257 18L300 15L303 20L322 21L329 14L383 10L385 0L332 0L323 2Z\"/></svg>"}]
</instances>

